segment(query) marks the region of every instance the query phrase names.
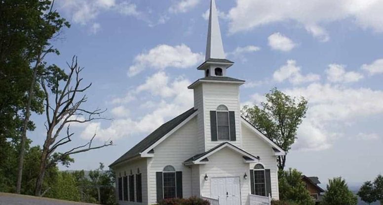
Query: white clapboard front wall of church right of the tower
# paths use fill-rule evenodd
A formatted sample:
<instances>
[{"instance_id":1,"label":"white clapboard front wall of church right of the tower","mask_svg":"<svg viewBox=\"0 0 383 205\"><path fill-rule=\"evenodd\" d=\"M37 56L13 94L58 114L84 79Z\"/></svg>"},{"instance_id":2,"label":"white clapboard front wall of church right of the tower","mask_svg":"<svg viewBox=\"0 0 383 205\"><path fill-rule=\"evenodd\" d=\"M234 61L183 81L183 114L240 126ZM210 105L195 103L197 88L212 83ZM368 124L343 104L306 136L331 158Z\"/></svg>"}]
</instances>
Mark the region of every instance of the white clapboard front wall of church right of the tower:
<instances>
[{"instance_id":1,"label":"white clapboard front wall of church right of the tower","mask_svg":"<svg viewBox=\"0 0 383 205\"><path fill-rule=\"evenodd\" d=\"M273 199L278 200L278 166L272 148L245 125L242 125L242 137L243 149L254 156L259 156L265 168L270 169L271 195ZM254 167L254 165L250 164L250 167Z\"/></svg>"}]
</instances>

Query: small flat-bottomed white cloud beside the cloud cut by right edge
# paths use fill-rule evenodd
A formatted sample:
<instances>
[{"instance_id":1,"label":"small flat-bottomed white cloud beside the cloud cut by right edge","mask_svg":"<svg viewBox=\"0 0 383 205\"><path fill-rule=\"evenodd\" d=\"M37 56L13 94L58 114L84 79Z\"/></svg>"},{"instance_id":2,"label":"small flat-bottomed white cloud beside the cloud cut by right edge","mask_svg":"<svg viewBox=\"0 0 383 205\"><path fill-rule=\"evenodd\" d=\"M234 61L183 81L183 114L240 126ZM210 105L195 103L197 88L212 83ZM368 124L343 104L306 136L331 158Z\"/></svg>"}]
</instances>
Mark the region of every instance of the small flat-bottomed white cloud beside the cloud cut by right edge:
<instances>
[{"instance_id":1,"label":"small flat-bottomed white cloud beside the cloud cut by right edge","mask_svg":"<svg viewBox=\"0 0 383 205\"><path fill-rule=\"evenodd\" d=\"M358 82L363 78L363 75L357 72L345 71L344 65L330 64L325 70L327 80L330 82Z\"/></svg>"}]
</instances>

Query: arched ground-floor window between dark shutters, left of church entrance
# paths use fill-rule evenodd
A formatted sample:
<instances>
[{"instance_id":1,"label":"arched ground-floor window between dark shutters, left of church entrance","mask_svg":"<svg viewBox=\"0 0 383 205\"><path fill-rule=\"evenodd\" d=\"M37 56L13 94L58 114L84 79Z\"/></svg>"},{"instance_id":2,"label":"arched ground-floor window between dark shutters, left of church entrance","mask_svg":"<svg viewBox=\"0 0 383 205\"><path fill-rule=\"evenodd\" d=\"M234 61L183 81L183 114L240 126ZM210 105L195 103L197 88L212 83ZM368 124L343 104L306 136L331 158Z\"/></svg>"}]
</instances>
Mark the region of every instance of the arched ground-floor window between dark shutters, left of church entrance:
<instances>
[{"instance_id":1,"label":"arched ground-floor window between dark shutters, left of church entrance","mask_svg":"<svg viewBox=\"0 0 383 205\"><path fill-rule=\"evenodd\" d=\"M176 198L176 169L172 165L163 168L163 199Z\"/></svg>"}]
</instances>

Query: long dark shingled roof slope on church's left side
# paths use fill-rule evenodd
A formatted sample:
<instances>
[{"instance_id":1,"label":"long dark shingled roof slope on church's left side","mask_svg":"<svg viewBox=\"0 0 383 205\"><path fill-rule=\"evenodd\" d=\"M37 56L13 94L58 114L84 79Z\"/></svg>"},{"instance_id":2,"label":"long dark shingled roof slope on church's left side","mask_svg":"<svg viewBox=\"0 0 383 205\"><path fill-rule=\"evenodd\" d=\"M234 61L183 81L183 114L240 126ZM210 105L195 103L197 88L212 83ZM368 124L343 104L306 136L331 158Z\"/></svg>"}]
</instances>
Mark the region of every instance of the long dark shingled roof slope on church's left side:
<instances>
[{"instance_id":1,"label":"long dark shingled roof slope on church's left side","mask_svg":"<svg viewBox=\"0 0 383 205\"><path fill-rule=\"evenodd\" d=\"M175 128L180 123L184 122L188 117L190 117L196 110L194 108L189 109L185 113L177 116L173 120L168 121L167 123L162 124L160 127L158 127L156 130L154 130L151 134L149 134L147 137L145 137L141 142L136 144L134 147L132 147L129 151L127 151L125 154L123 154L121 157L119 157L114 163L109 165L110 167L130 160L134 157L137 157L140 155L141 152L148 149L150 146L152 146L156 141L161 139L165 134L167 134L170 130Z\"/></svg>"}]
</instances>

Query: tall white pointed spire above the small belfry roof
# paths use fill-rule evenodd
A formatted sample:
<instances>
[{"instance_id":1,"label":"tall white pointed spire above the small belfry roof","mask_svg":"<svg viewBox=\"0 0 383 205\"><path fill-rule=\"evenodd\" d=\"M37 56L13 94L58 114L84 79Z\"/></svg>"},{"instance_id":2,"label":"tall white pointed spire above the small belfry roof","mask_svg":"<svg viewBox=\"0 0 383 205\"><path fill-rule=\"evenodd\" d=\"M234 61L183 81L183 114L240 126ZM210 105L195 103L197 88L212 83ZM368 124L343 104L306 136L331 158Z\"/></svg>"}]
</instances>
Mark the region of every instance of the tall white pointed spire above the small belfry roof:
<instances>
[{"instance_id":1,"label":"tall white pointed spire above the small belfry roof","mask_svg":"<svg viewBox=\"0 0 383 205\"><path fill-rule=\"evenodd\" d=\"M210 1L209 29L207 32L205 60L210 58L225 59L215 0Z\"/></svg>"}]
</instances>

